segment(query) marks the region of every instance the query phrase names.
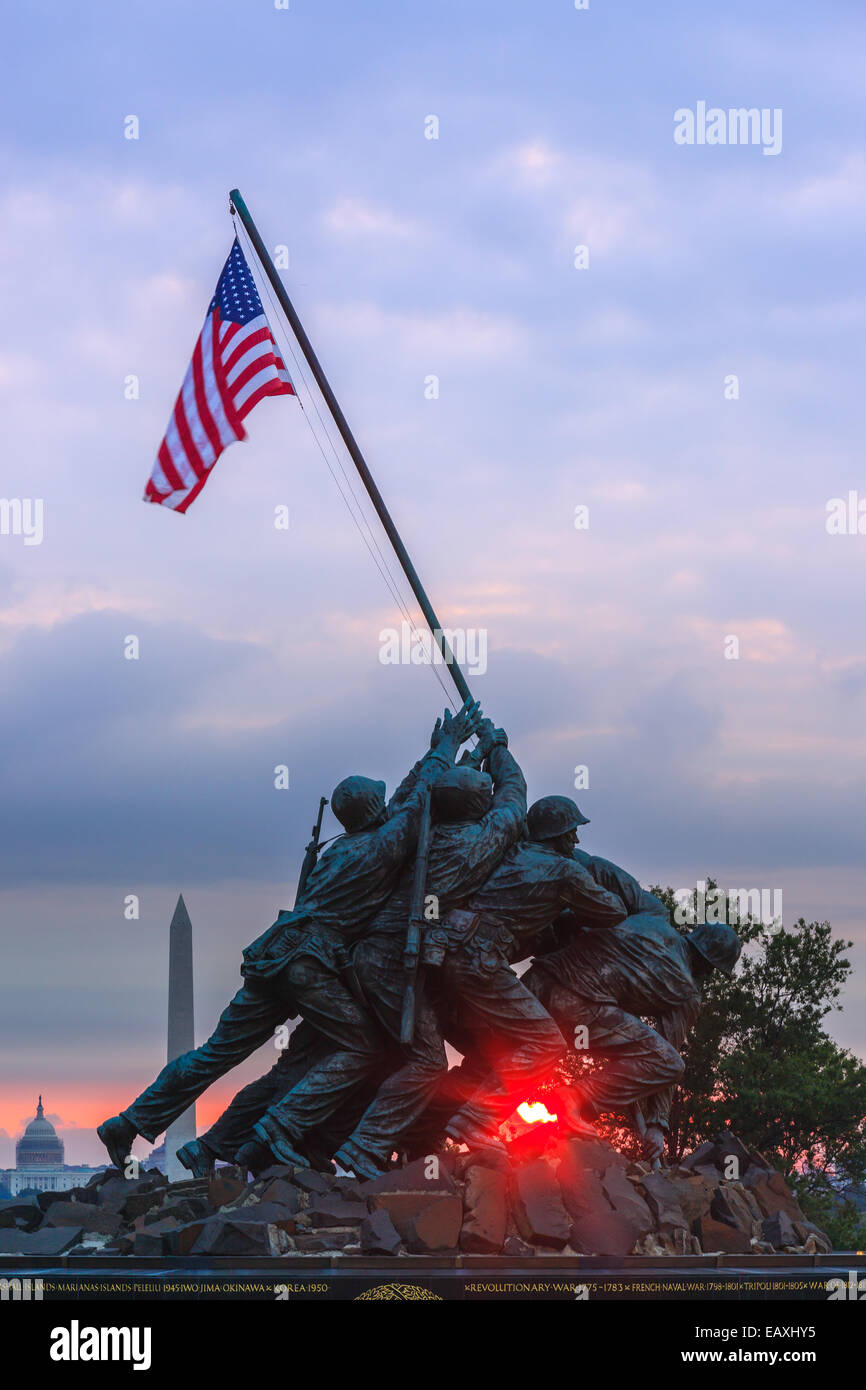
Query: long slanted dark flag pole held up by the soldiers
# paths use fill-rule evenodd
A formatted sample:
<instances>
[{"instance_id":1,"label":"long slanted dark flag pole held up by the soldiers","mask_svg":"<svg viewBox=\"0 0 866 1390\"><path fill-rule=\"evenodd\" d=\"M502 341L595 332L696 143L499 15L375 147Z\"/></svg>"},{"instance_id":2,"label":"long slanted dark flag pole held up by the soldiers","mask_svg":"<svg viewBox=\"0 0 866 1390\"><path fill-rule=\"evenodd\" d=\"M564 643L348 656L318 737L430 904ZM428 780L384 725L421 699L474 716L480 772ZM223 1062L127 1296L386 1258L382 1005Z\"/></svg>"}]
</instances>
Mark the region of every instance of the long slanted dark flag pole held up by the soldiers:
<instances>
[{"instance_id":1,"label":"long slanted dark flag pole held up by the soldiers","mask_svg":"<svg viewBox=\"0 0 866 1390\"><path fill-rule=\"evenodd\" d=\"M300 318L297 317L297 314L295 313L295 306L292 304L292 300L289 299L289 296L286 293L286 288L282 284L282 279L279 278L279 275L277 274L277 267L274 265L274 261L271 260L271 257L270 257L270 254L267 252L267 247L265 247L264 242L261 240L261 236L259 235L259 228L256 227L256 224L254 224L254 221L253 221L253 218L250 215L250 210L246 206L246 203L243 202L243 199L240 197L240 193L238 192L236 188L234 188L231 190L229 200L231 200L232 210L236 211L238 217L243 222L243 227L246 228L249 239L252 240L253 247L256 250L256 256L259 257L259 260L261 263L261 268L263 268L263 271L265 272L267 278L271 282L274 293L277 295L277 299L279 300L279 307L282 309L284 314L286 316L286 318L289 321L289 325L292 328L292 332L295 334L295 338L297 339L300 350L302 350L302 353L304 354L304 357L307 360L307 366L310 367L310 371L313 373L313 377L316 378L316 385L321 391L321 393L322 393L322 396L325 399L325 403L328 406L328 410L331 411L331 414L334 417L334 424L339 430L341 438L342 438L343 443L346 445L346 449L349 450L349 456L352 459L352 463L354 464L354 467L357 468L357 471L360 474L360 480L364 484L364 488L367 489L370 500L373 502L373 506L375 507L377 516L378 516L379 521L382 523L382 527L385 528L385 534L388 535L388 539L391 541L391 543L393 546L393 550L395 550L395 555L396 555L398 560L400 562L400 566L403 569L403 574L409 580L409 585L411 588L411 592L414 594L416 599L418 600L418 606L421 609L421 613L424 614L424 617L427 620L427 626L430 627L430 631L432 632L434 642L436 644L436 646L442 652L442 657L443 657L445 664L448 666L448 669L450 671L450 677L452 677L455 685L457 687L457 689L460 692L460 699L464 699L464 701L466 699L471 699L473 696L471 696L470 688L467 685L466 677L464 677L463 671L460 670L457 662L455 660L455 653L452 652L450 645L448 642L448 638L445 637L445 632L442 631L442 624L439 623L439 619L434 613L432 605L431 605L430 599L427 598L427 592L424 589L424 585L421 584L421 580L418 578L417 570L416 570L414 564L411 563L411 560L409 557L409 550L403 545L403 541L400 538L400 532L398 531L396 525L393 524L393 520L391 517L391 512L385 506L385 499L382 498L382 493L379 492L379 489L375 485L375 478L373 477L373 474L370 473L370 468L367 467L366 459L364 459L364 456L363 456L363 453L361 453L361 450L360 450L360 448L357 445L357 441L356 441L354 435L352 434L352 430L349 428L349 423L348 423L346 417L343 416L343 413L342 413L342 410L339 407L339 402L338 402L336 396L331 391L331 384L328 382L328 378L325 377L325 374L322 371L321 363L320 363L318 357L316 356L316 353L313 350L313 345L311 345L310 339L307 338L307 335L304 332L304 327L303 327Z\"/></svg>"}]
</instances>

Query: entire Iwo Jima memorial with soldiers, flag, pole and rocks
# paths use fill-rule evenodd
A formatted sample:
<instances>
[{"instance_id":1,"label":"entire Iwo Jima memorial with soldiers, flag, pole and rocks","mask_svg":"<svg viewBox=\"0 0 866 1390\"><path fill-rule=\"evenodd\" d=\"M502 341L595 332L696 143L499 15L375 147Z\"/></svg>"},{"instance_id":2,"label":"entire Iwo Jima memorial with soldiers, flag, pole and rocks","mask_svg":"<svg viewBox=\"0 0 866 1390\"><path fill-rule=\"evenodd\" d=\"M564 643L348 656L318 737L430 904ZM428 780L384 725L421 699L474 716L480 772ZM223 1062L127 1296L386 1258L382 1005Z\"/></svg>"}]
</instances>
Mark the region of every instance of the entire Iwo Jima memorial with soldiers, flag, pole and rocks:
<instances>
[{"instance_id":1,"label":"entire Iwo Jima memorial with soldiers, flag, pole and rocks","mask_svg":"<svg viewBox=\"0 0 866 1390\"><path fill-rule=\"evenodd\" d=\"M254 404L296 393L250 271L257 259L263 289L275 296L274 321L279 306L461 706L436 719L391 799L382 781L354 773L334 788L329 805L343 834L320 853L322 798L295 906L243 951L240 988L211 1036L100 1125L120 1169L97 1184L100 1205L104 1198L117 1215L113 1248L828 1248L780 1175L734 1136L662 1168L702 983L713 970L734 972L740 940L717 922L680 933L626 869L580 849L587 817L570 796L553 790L527 806L516 751L473 699L238 190L231 211L235 240L146 500L185 512L222 449L245 438ZM463 749L471 738L474 748ZM281 1030L288 1042L277 1063L178 1151L192 1180L174 1191L146 1172L132 1179L131 1204L136 1136L154 1141ZM531 1148L521 1162L503 1125L577 1038L594 1065L552 1093L553 1147ZM450 1069L446 1044L463 1058ZM603 1113L634 1127L639 1161L599 1138L594 1120ZM217 1161L235 1168L214 1176Z\"/></svg>"}]
</instances>

